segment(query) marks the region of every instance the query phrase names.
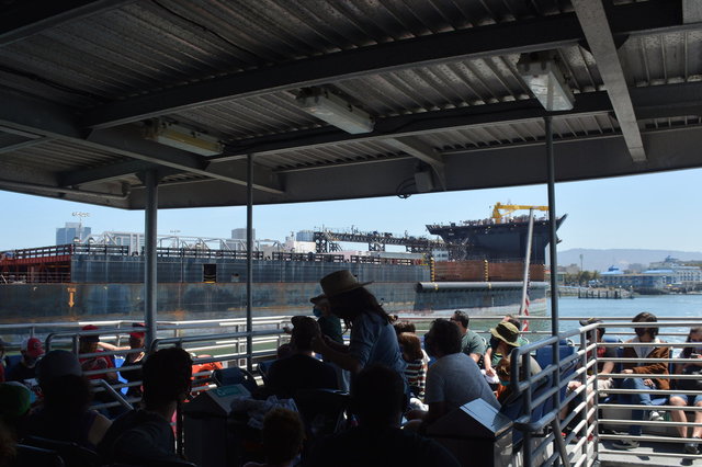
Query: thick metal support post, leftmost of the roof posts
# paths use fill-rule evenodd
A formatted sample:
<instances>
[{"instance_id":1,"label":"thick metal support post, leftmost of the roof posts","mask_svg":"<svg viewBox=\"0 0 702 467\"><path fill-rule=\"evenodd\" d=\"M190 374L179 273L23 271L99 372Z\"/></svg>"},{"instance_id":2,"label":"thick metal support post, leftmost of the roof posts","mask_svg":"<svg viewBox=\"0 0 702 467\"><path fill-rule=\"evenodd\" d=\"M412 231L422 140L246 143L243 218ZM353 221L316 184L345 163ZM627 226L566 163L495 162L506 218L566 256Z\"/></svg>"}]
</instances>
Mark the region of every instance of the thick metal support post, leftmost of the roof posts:
<instances>
[{"instance_id":1,"label":"thick metal support post, leftmost of the roof posts","mask_svg":"<svg viewBox=\"0 0 702 467\"><path fill-rule=\"evenodd\" d=\"M158 175L156 170L145 173L146 184L146 212L144 215L144 266L145 266L145 309L144 322L146 323L146 349L151 348L156 339L156 230L158 214Z\"/></svg>"}]
</instances>

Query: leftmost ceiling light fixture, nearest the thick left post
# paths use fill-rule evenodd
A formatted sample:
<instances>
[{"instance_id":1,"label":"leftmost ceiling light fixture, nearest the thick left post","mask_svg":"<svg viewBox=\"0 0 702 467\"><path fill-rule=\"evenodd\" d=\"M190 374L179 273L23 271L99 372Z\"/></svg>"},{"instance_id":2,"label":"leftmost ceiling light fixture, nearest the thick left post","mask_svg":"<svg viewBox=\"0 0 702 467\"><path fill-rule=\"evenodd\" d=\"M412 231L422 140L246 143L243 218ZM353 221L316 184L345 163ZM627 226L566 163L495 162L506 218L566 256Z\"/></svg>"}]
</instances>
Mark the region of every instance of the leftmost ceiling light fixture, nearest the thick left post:
<instances>
[{"instance_id":1,"label":"leftmost ceiling light fixture, nearest the thick left post","mask_svg":"<svg viewBox=\"0 0 702 467\"><path fill-rule=\"evenodd\" d=\"M224 150L224 145L214 136L159 118L149 122L145 137L161 145L201 156L216 156Z\"/></svg>"}]
</instances>

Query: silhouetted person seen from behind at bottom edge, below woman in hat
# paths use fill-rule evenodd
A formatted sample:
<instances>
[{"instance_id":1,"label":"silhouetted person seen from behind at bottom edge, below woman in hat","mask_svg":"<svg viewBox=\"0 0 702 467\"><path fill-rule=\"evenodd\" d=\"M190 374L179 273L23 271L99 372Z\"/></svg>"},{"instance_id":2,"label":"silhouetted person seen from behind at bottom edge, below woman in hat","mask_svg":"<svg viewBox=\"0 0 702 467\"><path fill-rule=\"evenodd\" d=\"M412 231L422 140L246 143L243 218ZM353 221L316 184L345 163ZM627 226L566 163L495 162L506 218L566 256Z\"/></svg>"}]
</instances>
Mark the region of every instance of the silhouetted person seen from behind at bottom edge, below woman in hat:
<instances>
[{"instance_id":1,"label":"silhouetted person seen from behind at bottom edge, below woman in hat","mask_svg":"<svg viewBox=\"0 0 702 467\"><path fill-rule=\"evenodd\" d=\"M460 464L441 445L401 430L407 405L401 376L385 366L366 366L351 387L359 425L313 446L306 466L453 467Z\"/></svg>"}]
</instances>

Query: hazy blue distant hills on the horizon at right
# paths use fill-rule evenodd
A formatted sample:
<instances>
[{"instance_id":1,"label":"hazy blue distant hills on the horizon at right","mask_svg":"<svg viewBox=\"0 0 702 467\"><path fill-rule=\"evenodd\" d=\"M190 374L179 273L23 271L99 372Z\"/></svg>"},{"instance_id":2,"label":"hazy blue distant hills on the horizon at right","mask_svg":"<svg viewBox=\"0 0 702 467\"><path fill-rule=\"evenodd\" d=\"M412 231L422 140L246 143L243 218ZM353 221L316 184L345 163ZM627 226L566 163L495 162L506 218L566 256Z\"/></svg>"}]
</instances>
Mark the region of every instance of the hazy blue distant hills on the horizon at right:
<instances>
[{"instance_id":1,"label":"hazy blue distant hills on the horizon at right","mask_svg":"<svg viewBox=\"0 0 702 467\"><path fill-rule=\"evenodd\" d=\"M582 266L587 271L607 271L611 265L624 270L634 263L648 266L649 263L663 261L668 255L682 261L702 261L702 252L699 251L574 248L558 251L558 264L562 266L574 263L580 265L580 254L582 254Z\"/></svg>"}]
</instances>

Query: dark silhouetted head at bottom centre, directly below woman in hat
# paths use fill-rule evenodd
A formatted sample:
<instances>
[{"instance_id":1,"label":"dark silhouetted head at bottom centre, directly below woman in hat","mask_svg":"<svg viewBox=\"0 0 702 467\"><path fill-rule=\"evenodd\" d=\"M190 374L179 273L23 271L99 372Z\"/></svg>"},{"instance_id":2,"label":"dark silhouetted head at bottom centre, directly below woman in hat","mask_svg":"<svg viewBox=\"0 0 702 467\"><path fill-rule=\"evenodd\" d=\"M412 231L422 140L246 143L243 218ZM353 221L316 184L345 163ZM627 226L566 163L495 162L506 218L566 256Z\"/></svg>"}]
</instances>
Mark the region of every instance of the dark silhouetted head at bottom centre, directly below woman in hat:
<instances>
[{"instance_id":1,"label":"dark silhouetted head at bottom centre, directly below woman in hat","mask_svg":"<svg viewBox=\"0 0 702 467\"><path fill-rule=\"evenodd\" d=\"M398 426L406 398L401 376L383 365L365 367L351 385L351 409L362 426Z\"/></svg>"}]
</instances>

